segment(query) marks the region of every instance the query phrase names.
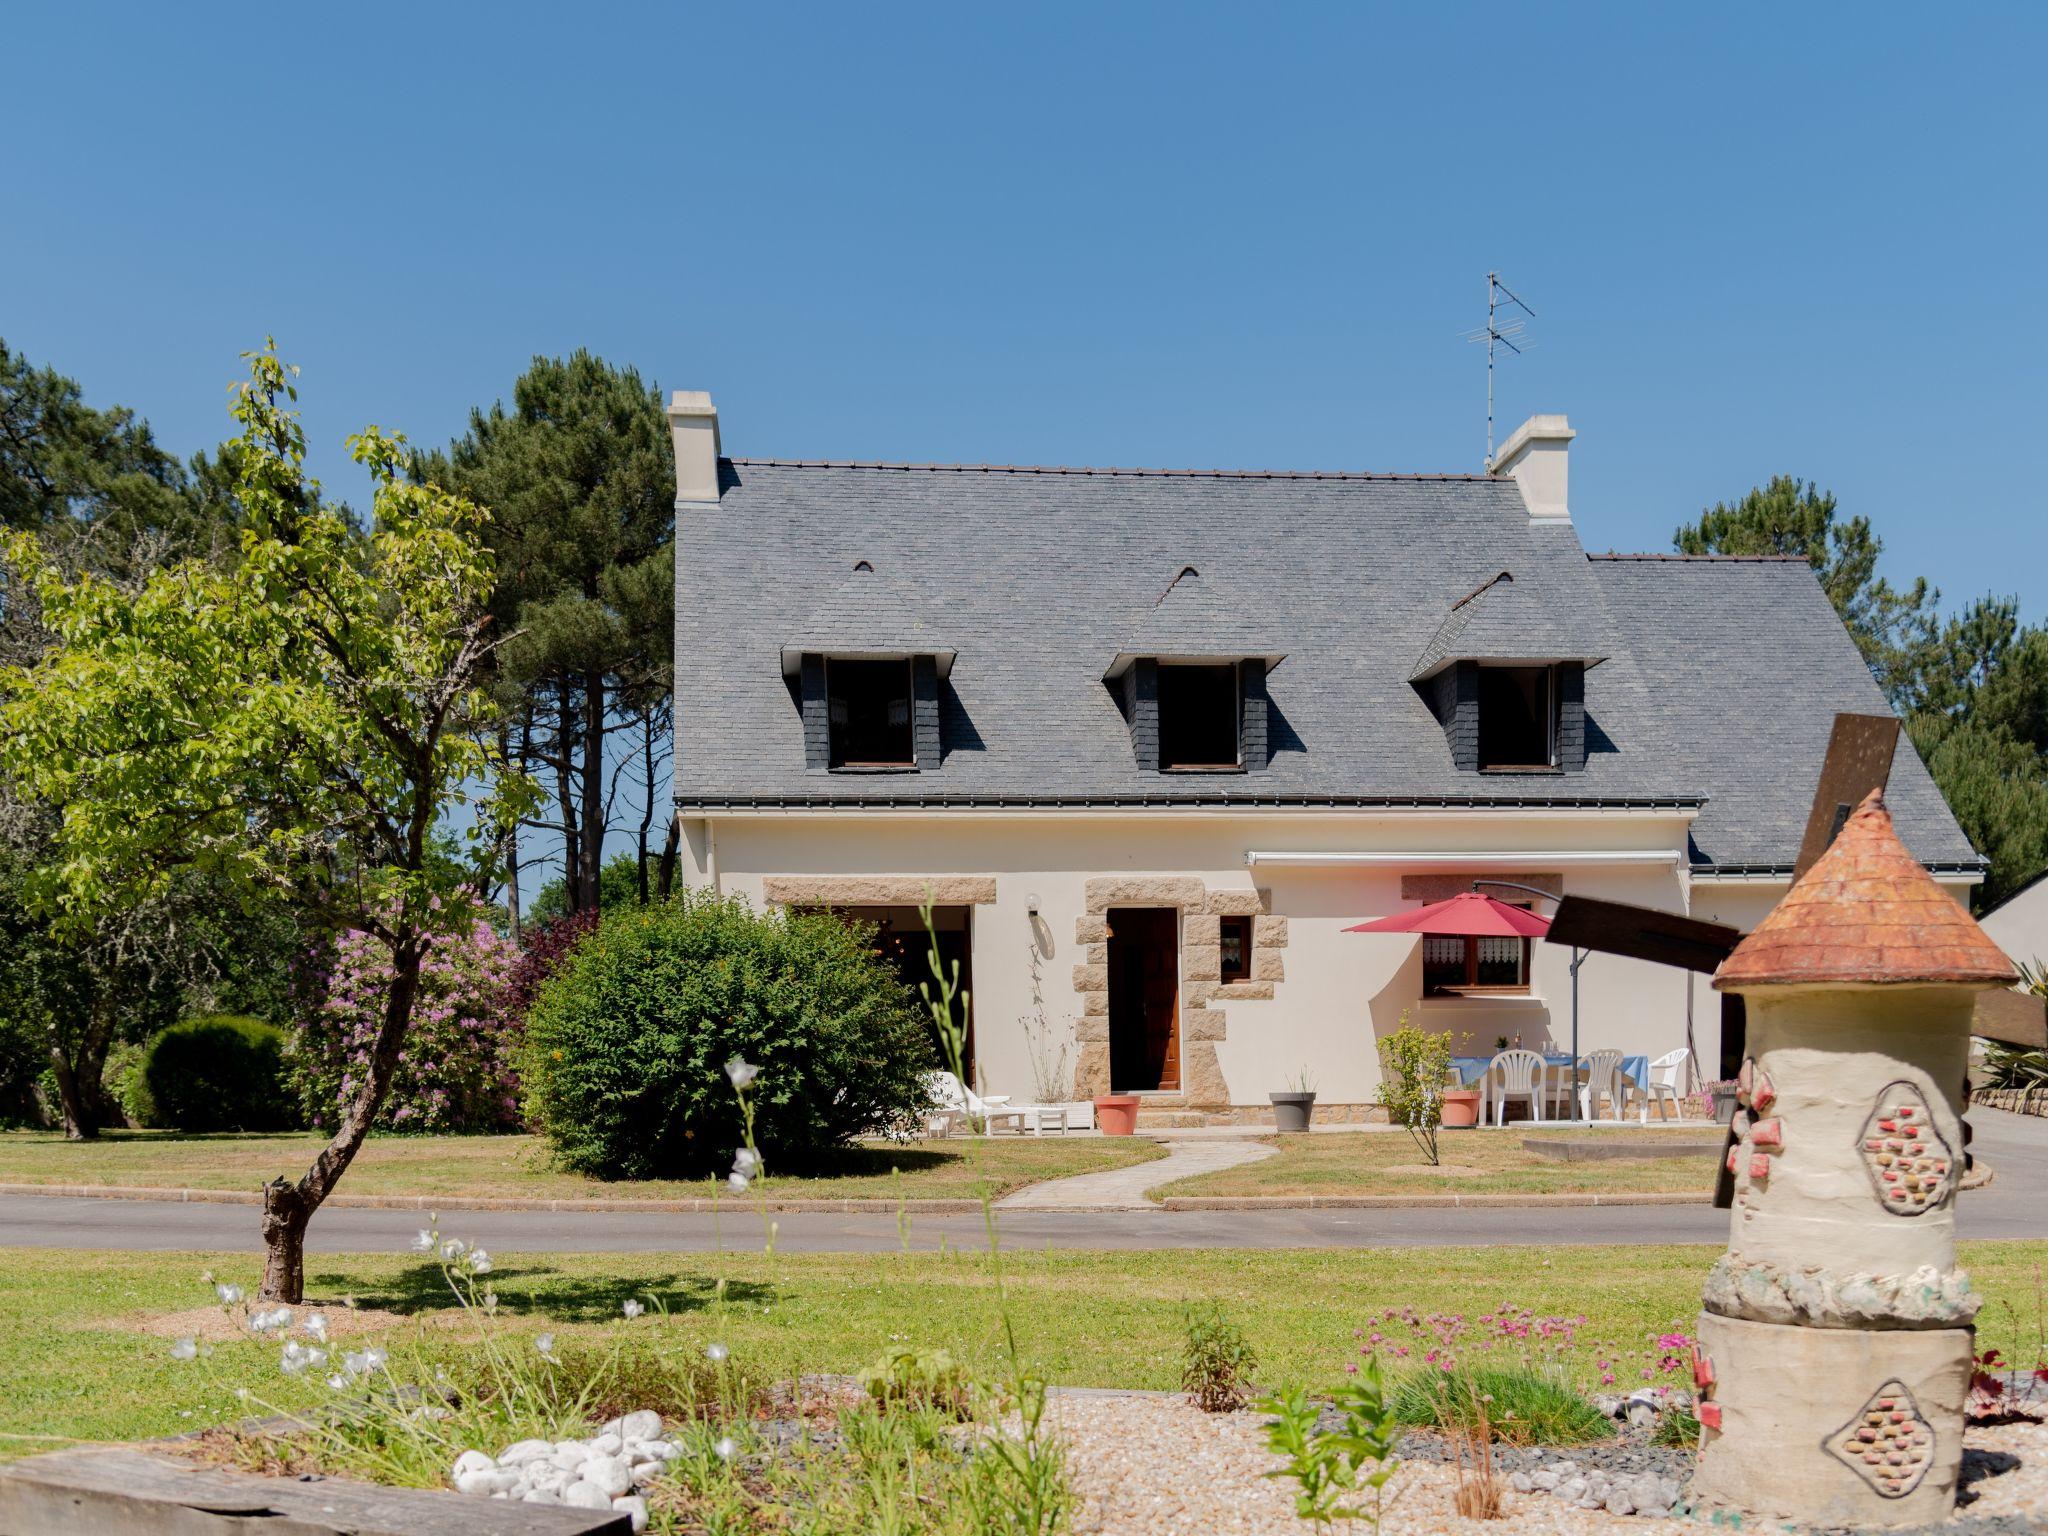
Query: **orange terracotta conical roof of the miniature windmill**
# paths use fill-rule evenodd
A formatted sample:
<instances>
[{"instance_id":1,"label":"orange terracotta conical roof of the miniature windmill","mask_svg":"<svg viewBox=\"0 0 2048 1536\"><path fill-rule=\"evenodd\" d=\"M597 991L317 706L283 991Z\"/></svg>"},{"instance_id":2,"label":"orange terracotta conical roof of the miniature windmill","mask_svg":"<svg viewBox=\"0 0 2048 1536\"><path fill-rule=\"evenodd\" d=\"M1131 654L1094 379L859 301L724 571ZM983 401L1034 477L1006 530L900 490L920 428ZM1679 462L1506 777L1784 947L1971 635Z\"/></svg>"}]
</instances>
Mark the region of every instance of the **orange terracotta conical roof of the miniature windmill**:
<instances>
[{"instance_id":1,"label":"orange terracotta conical roof of the miniature windmill","mask_svg":"<svg viewBox=\"0 0 2048 1536\"><path fill-rule=\"evenodd\" d=\"M1833 846L1714 973L1722 989L2017 979L2005 952L1898 842L1882 788L1864 797Z\"/></svg>"}]
</instances>

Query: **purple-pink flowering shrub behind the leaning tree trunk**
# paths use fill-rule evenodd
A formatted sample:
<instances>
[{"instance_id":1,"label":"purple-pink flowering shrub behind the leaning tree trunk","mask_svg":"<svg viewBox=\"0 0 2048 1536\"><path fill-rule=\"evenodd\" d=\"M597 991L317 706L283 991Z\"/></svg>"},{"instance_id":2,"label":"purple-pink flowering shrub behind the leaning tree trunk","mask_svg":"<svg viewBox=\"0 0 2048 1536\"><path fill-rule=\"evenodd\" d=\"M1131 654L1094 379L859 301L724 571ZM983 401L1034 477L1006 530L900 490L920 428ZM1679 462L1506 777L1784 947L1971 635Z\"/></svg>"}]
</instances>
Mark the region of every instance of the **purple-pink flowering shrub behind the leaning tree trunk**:
<instances>
[{"instance_id":1,"label":"purple-pink flowering shrub behind the leaning tree trunk","mask_svg":"<svg viewBox=\"0 0 2048 1536\"><path fill-rule=\"evenodd\" d=\"M379 1130L516 1130L518 1073L512 1055L520 1010L512 1004L518 948L489 924L436 944L420 971L412 1028L399 1047ZM315 1130L332 1130L356 1092L383 1022L391 967L369 934L348 932L303 977L291 1083Z\"/></svg>"}]
</instances>

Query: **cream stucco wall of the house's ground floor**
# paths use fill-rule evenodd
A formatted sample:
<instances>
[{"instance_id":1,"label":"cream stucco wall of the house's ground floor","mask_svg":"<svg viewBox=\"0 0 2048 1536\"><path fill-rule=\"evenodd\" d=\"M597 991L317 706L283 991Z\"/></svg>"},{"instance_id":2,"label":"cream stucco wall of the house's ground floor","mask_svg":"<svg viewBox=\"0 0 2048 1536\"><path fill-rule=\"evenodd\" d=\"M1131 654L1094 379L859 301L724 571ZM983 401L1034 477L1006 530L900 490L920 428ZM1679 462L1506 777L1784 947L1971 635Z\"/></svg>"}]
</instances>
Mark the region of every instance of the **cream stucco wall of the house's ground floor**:
<instances>
[{"instance_id":1,"label":"cream stucco wall of the house's ground floor","mask_svg":"<svg viewBox=\"0 0 2048 1536\"><path fill-rule=\"evenodd\" d=\"M1286 975L1270 1001L1219 999L1227 1016L1217 1063L1235 1104L1266 1094L1307 1065L1325 1104L1376 1096L1374 1038L1403 1010L1432 1030L1452 1030L1458 1055L1491 1055L1497 1036L1528 1047L1569 1047L1569 954L1534 946L1532 991L1516 999L1421 999L1421 940L1407 934L1343 934L1350 924L1409 911L1403 864L1374 868L1247 866L1247 852L1520 854L1522 870L1561 872L1565 891L1612 901L1688 909L1681 815L1618 813L1417 813L1417 815L721 815L684 821L684 874L762 901L766 877L795 874L983 874L995 901L975 907L973 981L977 1055L989 1092L1032 1090L1022 1018L1030 1012L1028 909L1036 924L1047 1016L1073 1030L1083 961L1075 920L1085 885L1112 874L1196 874L1210 891L1268 893L1266 911L1288 920ZM1542 854L1657 852L1659 866L1581 866ZM1513 864L1513 858L1507 860ZM1434 864L1409 864L1446 872ZM1475 874L1513 879L1493 858ZM1505 893L1495 893L1505 895ZM1747 893L1745 893L1747 895ZM1767 909L1763 901L1761 909ZM1724 918L1733 922L1733 918ZM1608 954L1579 977L1579 1049L1618 1047L1651 1057L1686 1042L1686 977ZM1712 997L1696 1001L1698 1049L1718 1047ZM1069 1049L1069 1063L1075 1059Z\"/></svg>"}]
</instances>

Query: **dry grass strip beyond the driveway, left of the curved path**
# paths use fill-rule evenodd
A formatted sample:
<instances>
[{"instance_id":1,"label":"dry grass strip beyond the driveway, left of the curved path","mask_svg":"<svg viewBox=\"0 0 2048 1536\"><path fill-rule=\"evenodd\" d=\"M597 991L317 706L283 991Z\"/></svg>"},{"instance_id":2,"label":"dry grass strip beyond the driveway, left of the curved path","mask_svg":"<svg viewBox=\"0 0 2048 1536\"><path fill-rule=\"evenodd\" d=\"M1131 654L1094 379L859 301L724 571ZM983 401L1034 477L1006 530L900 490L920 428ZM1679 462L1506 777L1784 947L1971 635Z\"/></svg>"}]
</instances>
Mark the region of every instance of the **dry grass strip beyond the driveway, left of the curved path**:
<instances>
[{"instance_id":1,"label":"dry grass strip beyond the driveway, left of the curved path","mask_svg":"<svg viewBox=\"0 0 2048 1536\"><path fill-rule=\"evenodd\" d=\"M180 1137L113 1130L66 1141L41 1130L0 1133L0 1184L113 1184L156 1190L248 1190L299 1178L324 1137ZM973 1198L981 1176L995 1194L1065 1174L1126 1167L1165 1151L1153 1141L1106 1137L991 1137L848 1149L827 1176L768 1182L774 1198ZM897 1176L893 1169L899 1169ZM778 1174L778 1169L768 1169ZM549 1167L539 1137L371 1137L342 1180L342 1194L420 1194L532 1200L676 1200L709 1196L715 1180L606 1184Z\"/></svg>"}]
</instances>

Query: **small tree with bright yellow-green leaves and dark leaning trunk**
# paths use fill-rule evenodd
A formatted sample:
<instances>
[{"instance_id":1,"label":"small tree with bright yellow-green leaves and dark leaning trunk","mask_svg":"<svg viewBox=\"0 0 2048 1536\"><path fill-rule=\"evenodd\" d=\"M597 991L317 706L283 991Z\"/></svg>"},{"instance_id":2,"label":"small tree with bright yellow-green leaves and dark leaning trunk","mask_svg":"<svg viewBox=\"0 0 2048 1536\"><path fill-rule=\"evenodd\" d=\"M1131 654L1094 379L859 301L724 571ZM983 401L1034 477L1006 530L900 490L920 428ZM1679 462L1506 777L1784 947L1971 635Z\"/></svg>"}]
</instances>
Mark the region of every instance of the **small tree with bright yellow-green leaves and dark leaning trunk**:
<instances>
[{"instance_id":1,"label":"small tree with bright yellow-green leaves and dark leaning trunk","mask_svg":"<svg viewBox=\"0 0 2048 1536\"><path fill-rule=\"evenodd\" d=\"M178 868L309 926L371 934L391 983L362 1079L297 1182L264 1188L262 1294L301 1300L305 1229L389 1090L426 954L467 932L530 788L492 748L485 514L403 479L403 438L348 440L375 485L358 528L305 475L293 371L274 346L236 389L223 463L244 520L231 563L184 559L133 592L70 575L16 535L55 647L0 670L0 768L57 809L37 899L90 924ZM487 786L487 788L477 788ZM461 854L436 829L467 817Z\"/></svg>"}]
</instances>

